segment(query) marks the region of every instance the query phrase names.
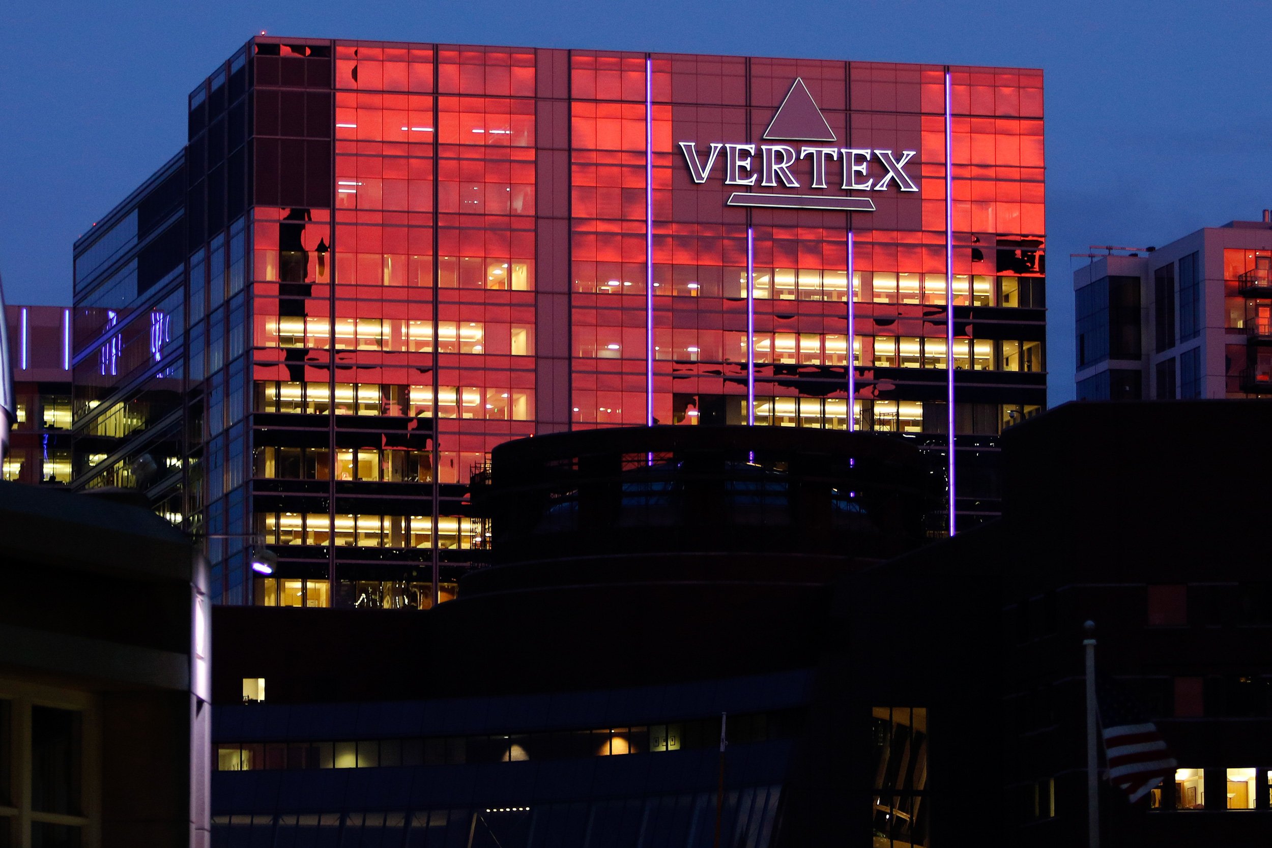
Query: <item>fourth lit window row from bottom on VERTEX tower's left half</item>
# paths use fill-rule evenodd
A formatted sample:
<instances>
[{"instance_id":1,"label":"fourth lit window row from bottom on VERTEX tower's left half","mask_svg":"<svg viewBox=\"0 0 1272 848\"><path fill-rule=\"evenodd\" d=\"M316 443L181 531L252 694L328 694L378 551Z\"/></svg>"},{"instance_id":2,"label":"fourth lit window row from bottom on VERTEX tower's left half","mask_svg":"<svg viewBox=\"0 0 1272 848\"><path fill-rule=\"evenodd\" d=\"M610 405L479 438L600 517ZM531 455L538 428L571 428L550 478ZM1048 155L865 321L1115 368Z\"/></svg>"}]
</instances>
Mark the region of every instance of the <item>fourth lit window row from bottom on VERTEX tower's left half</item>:
<instances>
[{"instance_id":1,"label":"fourth lit window row from bottom on VERTEX tower's left half","mask_svg":"<svg viewBox=\"0 0 1272 848\"><path fill-rule=\"evenodd\" d=\"M332 403L327 383L263 380L256 384L256 402L257 412L432 417L434 411L431 385L337 383ZM436 409L439 418L533 421L534 390L444 385Z\"/></svg>"}]
</instances>

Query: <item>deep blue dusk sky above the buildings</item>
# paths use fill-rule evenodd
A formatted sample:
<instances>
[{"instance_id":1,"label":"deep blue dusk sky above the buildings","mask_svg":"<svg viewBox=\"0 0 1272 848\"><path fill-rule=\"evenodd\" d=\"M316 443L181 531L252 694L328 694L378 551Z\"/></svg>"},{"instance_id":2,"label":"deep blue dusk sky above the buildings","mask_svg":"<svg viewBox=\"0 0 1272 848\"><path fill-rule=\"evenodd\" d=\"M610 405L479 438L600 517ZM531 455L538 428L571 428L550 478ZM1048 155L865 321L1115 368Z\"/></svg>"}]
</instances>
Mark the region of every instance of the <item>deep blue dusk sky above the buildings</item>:
<instances>
[{"instance_id":1,"label":"deep blue dusk sky above the buildings","mask_svg":"<svg viewBox=\"0 0 1272 848\"><path fill-rule=\"evenodd\" d=\"M1040 67L1052 404L1074 397L1070 253L1163 244L1272 207L1264 0L8 3L0 276L9 303L70 303L71 243L177 153L190 89L262 29Z\"/></svg>"}]
</instances>

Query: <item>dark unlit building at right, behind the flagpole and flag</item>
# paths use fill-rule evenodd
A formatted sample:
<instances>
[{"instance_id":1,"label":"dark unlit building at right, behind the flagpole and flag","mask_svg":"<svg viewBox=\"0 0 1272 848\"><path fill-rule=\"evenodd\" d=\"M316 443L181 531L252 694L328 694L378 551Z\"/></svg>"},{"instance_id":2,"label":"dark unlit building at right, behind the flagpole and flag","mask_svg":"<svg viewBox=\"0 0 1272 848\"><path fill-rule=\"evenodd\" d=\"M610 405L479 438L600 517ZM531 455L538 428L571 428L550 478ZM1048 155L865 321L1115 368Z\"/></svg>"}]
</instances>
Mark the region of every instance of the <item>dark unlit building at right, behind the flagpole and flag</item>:
<instances>
[{"instance_id":1,"label":"dark unlit building at right, behind the flagpole and flag","mask_svg":"<svg viewBox=\"0 0 1272 848\"><path fill-rule=\"evenodd\" d=\"M1103 844L1262 844L1272 580L1257 537L1272 497L1247 469L1272 449L1235 434L1269 426L1264 402L1076 403L1009 431L1000 521L837 589L806 749L818 765L806 795L787 795L810 833L855 829L836 810L873 809L875 844L904 845L927 806L940 844L1086 844L1093 620L1099 673L1179 764L1137 805L1102 782ZM881 706L897 704L930 720L926 782L885 765L898 737ZM887 753L874 772L866 716Z\"/></svg>"}]
</instances>

